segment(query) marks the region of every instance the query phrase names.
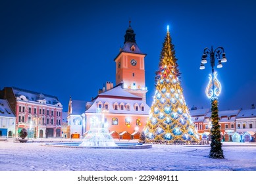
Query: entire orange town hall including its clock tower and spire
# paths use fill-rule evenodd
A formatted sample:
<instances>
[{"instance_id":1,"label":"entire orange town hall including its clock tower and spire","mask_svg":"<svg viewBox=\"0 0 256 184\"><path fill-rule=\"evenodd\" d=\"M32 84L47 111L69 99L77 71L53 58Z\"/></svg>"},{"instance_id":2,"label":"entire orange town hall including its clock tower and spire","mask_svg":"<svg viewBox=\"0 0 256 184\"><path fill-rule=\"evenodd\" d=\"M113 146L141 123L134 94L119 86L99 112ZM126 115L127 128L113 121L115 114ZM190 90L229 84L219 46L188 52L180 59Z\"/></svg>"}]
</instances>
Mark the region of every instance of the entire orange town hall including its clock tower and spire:
<instances>
[{"instance_id":1,"label":"entire orange town hall including its clock tower and spire","mask_svg":"<svg viewBox=\"0 0 256 184\"><path fill-rule=\"evenodd\" d=\"M116 86L107 82L99 95L86 103L86 129L100 109L103 122L115 138L136 139L143 131L149 115L145 86L146 54L140 51L134 30L129 24L124 35L124 46L114 59L116 62ZM118 135L116 135L118 134Z\"/></svg>"}]
</instances>

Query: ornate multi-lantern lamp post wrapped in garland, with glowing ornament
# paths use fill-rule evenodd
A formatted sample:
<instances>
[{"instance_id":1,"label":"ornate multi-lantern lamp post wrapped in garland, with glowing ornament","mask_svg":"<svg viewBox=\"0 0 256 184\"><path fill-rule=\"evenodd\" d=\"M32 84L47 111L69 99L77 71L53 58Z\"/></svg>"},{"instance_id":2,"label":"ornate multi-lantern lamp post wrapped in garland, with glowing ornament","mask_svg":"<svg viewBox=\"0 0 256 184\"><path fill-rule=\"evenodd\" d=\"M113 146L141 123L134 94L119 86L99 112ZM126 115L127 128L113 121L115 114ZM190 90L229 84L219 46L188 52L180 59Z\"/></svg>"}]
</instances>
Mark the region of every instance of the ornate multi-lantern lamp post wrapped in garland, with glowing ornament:
<instances>
[{"instance_id":1,"label":"ornate multi-lantern lamp post wrapped in garland, with glowing ornament","mask_svg":"<svg viewBox=\"0 0 256 184\"><path fill-rule=\"evenodd\" d=\"M221 57L220 57L221 56ZM205 64L207 63L207 57L210 58L211 63L211 74L209 74L209 83L206 87L205 93L207 97L211 100L211 150L210 158L224 158L221 135L220 135L220 125L218 124L218 95L220 95L221 85L217 80L217 72L214 70L215 59L218 60L217 68L222 68L222 62L226 62L226 54L224 53L223 47L217 47L213 50L205 48L203 50L203 56L201 60L200 70L205 69Z\"/></svg>"}]
</instances>

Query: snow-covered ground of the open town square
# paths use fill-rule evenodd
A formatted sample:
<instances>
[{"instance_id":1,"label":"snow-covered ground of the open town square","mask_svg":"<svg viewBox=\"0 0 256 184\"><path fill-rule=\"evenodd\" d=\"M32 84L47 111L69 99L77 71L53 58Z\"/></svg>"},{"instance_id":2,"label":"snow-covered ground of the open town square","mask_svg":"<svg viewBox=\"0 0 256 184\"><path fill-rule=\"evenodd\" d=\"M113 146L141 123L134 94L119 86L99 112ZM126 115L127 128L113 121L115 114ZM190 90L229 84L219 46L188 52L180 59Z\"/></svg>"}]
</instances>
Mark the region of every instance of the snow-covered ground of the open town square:
<instances>
[{"instance_id":1,"label":"snow-covered ground of the open town square","mask_svg":"<svg viewBox=\"0 0 256 184\"><path fill-rule=\"evenodd\" d=\"M256 171L255 143L223 143L224 159L209 145L153 145L151 149L81 149L0 142L1 171Z\"/></svg>"}]
</instances>

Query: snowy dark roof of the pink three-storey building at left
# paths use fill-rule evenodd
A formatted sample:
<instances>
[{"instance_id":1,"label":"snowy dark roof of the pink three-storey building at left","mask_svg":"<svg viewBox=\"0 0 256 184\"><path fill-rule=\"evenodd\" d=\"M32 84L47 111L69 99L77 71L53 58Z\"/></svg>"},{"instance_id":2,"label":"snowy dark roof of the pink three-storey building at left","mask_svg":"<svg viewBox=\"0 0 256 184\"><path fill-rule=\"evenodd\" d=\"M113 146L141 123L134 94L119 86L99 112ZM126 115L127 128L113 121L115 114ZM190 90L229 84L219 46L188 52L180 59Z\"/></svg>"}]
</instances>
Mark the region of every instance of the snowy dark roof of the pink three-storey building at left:
<instances>
[{"instance_id":1,"label":"snowy dark roof of the pink three-storey building at left","mask_svg":"<svg viewBox=\"0 0 256 184\"><path fill-rule=\"evenodd\" d=\"M58 98L55 96L29 91L26 89L20 89L18 87L12 87L12 89L15 97L20 97L21 95L23 95L24 97L26 97L26 99L28 99L28 101L45 100L47 104L59 103Z\"/></svg>"}]
</instances>

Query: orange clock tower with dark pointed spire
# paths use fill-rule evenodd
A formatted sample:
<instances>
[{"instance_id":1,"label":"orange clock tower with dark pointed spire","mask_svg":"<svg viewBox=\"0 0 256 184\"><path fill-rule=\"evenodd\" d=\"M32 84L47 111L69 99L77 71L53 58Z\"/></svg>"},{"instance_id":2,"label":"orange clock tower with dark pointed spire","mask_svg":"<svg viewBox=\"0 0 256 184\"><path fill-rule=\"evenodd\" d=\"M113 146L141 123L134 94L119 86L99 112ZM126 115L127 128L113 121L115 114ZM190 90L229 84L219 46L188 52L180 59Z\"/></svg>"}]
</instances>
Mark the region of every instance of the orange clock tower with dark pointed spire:
<instances>
[{"instance_id":1,"label":"orange clock tower with dark pointed spire","mask_svg":"<svg viewBox=\"0 0 256 184\"><path fill-rule=\"evenodd\" d=\"M116 85L129 93L142 97L146 102L147 87L145 86L145 53L140 51L135 39L134 30L129 21L129 27L124 35L124 46L116 58Z\"/></svg>"}]
</instances>

